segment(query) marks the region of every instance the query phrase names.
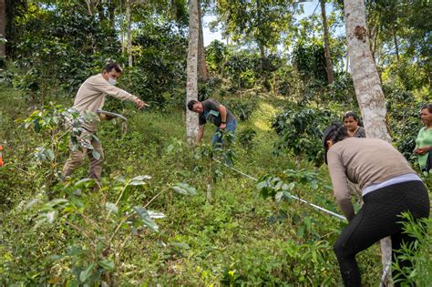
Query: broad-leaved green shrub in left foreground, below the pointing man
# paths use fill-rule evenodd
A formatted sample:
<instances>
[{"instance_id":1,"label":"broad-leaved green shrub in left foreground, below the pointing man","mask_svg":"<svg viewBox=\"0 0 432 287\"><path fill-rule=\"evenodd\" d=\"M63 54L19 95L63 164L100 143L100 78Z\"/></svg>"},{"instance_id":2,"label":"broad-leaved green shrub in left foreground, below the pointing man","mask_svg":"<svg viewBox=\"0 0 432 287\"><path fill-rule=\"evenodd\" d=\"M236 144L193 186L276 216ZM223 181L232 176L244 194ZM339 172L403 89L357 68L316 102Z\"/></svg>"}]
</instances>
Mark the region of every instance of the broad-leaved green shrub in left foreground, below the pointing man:
<instances>
[{"instance_id":1,"label":"broad-leaved green shrub in left foreground, below the pointing man","mask_svg":"<svg viewBox=\"0 0 432 287\"><path fill-rule=\"evenodd\" d=\"M52 224L58 218L63 219L62 224L70 228L69 231L76 233L76 241L67 246L66 252L52 256L53 260L69 266L60 282L117 284L118 264L131 236L139 236L143 228L159 232L154 219L165 217L160 212L147 210L149 203L161 192L145 206L134 206L134 190L146 185L149 179L149 176L138 176L105 180L98 194L92 193L93 179L81 179L56 187L63 198L48 202L36 199L27 204L26 209L36 212L35 229ZM186 183L172 185L169 189L180 194L196 194Z\"/></svg>"}]
</instances>

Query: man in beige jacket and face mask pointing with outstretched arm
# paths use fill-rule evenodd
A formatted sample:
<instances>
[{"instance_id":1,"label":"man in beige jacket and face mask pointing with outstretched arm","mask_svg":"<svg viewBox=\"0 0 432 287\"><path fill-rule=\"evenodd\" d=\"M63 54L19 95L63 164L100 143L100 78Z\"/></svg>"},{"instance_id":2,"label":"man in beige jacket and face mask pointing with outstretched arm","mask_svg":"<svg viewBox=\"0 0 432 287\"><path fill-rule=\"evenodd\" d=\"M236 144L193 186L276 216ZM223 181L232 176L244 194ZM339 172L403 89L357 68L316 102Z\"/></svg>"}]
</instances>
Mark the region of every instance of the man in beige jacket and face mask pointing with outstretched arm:
<instances>
[{"instance_id":1,"label":"man in beige jacket and face mask pointing with outstretched arm","mask_svg":"<svg viewBox=\"0 0 432 287\"><path fill-rule=\"evenodd\" d=\"M96 117L97 110L104 106L106 95L134 102L139 109L148 106L145 102L140 100L139 97L135 97L127 91L115 87L120 74L121 68L118 67L117 64L108 64L102 69L102 73L88 77L81 87L79 87L73 108L77 109L80 114L89 113L90 115L92 114L93 117L90 117L91 119L87 119L87 121L83 123L85 131L81 132L78 138L78 140L81 141L82 149L74 149L72 138L70 139L69 147L71 149L71 154L63 168L63 177L66 178L70 176L73 170L81 164L87 154L88 159L90 160L88 178L96 180L100 179L104 153L102 145L93 135L95 135L98 130L100 119L109 119L102 118L102 116ZM93 146L93 149L87 149L84 146Z\"/></svg>"}]
</instances>

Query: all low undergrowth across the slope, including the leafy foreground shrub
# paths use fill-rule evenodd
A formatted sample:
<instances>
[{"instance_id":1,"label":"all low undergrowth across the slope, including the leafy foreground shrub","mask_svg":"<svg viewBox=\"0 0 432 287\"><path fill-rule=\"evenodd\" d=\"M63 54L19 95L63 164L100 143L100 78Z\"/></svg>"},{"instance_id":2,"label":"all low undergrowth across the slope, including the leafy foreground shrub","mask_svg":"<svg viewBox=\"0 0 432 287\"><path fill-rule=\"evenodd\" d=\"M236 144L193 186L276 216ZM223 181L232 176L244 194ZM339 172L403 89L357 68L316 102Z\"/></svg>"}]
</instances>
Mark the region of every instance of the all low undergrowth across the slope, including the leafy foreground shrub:
<instances>
[{"instance_id":1,"label":"all low undergrowth across the slope, including the leafy foreground shrub","mask_svg":"<svg viewBox=\"0 0 432 287\"><path fill-rule=\"evenodd\" d=\"M141 112L126 105L125 134L118 124L104 123L98 138L105 178L93 192L91 182L78 181L87 176L87 162L66 183L48 178L67 158L67 138L60 140L55 161L37 162L32 154L46 139L24 127L31 111L20 95L0 91L6 162L0 169L2 285L341 284L332 245L345 222L296 200L262 199L255 181L211 160L208 147L184 142L181 109ZM70 98L53 101L71 104ZM239 126L235 167L257 179L270 174L290 180L293 194L337 212L325 167L274 153L278 137L270 126L282 101L256 102ZM206 142L211 134L206 127ZM140 175L151 179L128 186ZM176 193L179 184L197 194ZM116 208L107 204L116 200ZM159 232L139 207L165 214L156 220ZM148 221L142 228L131 220ZM377 285L378 245L357 260L365 284Z\"/></svg>"}]
</instances>

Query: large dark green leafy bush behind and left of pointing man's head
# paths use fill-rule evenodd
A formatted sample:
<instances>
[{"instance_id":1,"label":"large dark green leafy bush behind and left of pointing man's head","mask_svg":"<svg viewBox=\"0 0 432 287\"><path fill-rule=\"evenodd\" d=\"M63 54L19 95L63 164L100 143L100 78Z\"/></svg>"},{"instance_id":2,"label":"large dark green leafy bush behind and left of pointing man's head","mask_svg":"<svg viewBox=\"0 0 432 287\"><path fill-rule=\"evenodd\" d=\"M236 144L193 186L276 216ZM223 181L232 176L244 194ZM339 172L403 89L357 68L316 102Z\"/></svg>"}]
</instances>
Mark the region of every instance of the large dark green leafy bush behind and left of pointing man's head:
<instances>
[{"instance_id":1,"label":"large dark green leafy bush behind and left of pointing man's head","mask_svg":"<svg viewBox=\"0 0 432 287\"><path fill-rule=\"evenodd\" d=\"M52 95L51 87L75 90L118 53L114 31L74 5L46 10L30 3L16 25L20 33L12 56L22 73L15 75L15 87L36 102Z\"/></svg>"}]
</instances>

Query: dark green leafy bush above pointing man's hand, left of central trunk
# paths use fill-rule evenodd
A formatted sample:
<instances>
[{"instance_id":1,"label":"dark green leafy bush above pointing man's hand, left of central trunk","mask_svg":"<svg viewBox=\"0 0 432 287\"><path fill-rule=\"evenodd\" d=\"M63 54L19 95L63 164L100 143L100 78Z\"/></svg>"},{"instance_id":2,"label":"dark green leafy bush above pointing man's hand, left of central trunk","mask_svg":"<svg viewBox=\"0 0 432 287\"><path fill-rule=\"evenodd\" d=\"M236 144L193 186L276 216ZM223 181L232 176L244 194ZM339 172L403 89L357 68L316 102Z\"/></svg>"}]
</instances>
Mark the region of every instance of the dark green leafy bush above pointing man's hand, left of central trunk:
<instances>
[{"instance_id":1,"label":"dark green leafy bush above pointing man's hand, left of central trunk","mask_svg":"<svg viewBox=\"0 0 432 287\"><path fill-rule=\"evenodd\" d=\"M125 71L120 83L150 102L179 100L186 81L187 37L183 31L172 33L170 24L144 22L134 45L139 47L134 67Z\"/></svg>"}]
</instances>

